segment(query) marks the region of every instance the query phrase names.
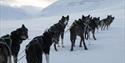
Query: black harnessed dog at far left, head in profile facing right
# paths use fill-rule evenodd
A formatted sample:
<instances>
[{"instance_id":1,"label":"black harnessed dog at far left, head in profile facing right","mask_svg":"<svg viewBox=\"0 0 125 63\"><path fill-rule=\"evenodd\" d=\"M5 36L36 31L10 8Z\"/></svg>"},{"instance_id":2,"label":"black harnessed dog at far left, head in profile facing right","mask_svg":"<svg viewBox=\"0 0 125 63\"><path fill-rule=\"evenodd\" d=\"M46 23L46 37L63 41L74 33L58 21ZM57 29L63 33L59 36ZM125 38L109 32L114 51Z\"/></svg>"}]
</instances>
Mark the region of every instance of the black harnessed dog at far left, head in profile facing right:
<instances>
[{"instance_id":1,"label":"black harnessed dog at far left, head in profile facing right","mask_svg":"<svg viewBox=\"0 0 125 63\"><path fill-rule=\"evenodd\" d=\"M22 25L21 28L12 31L11 34L2 36L0 42L3 42L11 51L11 55L14 57L14 62L17 63L17 56L20 50L20 44L23 40L28 38L28 29ZM3 52L6 53L6 52Z\"/></svg>"}]
</instances>

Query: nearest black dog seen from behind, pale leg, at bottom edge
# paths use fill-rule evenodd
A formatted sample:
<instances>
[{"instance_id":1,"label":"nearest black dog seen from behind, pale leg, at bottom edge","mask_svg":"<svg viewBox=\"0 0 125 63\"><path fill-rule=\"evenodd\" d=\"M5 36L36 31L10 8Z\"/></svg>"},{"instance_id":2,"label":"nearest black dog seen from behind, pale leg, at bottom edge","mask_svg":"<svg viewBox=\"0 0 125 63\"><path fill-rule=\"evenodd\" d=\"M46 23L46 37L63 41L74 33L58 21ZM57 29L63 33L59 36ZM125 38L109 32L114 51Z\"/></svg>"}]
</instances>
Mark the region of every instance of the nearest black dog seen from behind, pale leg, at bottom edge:
<instances>
[{"instance_id":1,"label":"nearest black dog seen from behind, pale leg, at bottom edge","mask_svg":"<svg viewBox=\"0 0 125 63\"><path fill-rule=\"evenodd\" d=\"M43 53L45 53L46 61L49 63L50 46L55 42L55 34L55 32L47 30L43 35L30 41L25 49L27 63L42 63Z\"/></svg>"}]
</instances>

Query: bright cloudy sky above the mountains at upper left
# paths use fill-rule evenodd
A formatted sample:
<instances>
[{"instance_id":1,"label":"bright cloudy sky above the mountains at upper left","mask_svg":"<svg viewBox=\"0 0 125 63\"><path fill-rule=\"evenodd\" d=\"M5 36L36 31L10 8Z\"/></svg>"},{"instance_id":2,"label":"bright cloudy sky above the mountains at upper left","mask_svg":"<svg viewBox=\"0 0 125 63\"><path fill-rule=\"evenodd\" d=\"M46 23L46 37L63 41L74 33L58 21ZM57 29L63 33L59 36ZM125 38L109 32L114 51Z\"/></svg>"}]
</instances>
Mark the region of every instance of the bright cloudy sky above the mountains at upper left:
<instances>
[{"instance_id":1,"label":"bright cloudy sky above the mountains at upper left","mask_svg":"<svg viewBox=\"0 0 125 63\"><path fill-rule=\"evenodd\" d=\"M45 8L57 0L0 0L0 4L11 6L35 6Z\"/></svg>"}]
</instances>

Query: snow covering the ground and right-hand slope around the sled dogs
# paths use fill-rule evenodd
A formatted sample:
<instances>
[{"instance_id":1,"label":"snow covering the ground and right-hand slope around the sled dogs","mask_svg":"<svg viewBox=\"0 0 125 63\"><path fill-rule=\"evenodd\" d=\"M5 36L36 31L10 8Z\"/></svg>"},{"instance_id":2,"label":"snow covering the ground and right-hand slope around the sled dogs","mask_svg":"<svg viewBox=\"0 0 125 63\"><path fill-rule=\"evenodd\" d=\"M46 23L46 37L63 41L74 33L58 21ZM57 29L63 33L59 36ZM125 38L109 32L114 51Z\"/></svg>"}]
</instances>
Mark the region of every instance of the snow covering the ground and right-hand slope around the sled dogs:
<instances>
[{"instance_id":1,"label":"snow covering the ground and right-hand slope around the sled dogs","mask_svg":"<svg viewBox=\"0 0 125 63\"><path fill-rule=\"evenodd\" d=\"M65 3L67 5L69 2L79 2L81 0L67 0ZM86 1L86 0L83 0ZM101 17L101 19L105 18L108 14L115 16L114 22L111 24L109 30L96 32L97 40L93 40L92 37L90 40L85 40L88 50L84 50L84 48L79 48L80 38L78 37L76 40L76 47L74 47L74 51L70 51L71 42L70 42L70 34L69 31L65 32L64 35L64 48L58 47L58 52L54 50L53 45L50 50L50 63L125 63L125 1L123 0L93 0L96 3L98 2L98 8L95 6L88 6L91 9L87 9L85 11L80 11L78 6L75 10L68 13L70 15L70 21L68 24L68 29L72 22L75 19L84 15L92 15L96 17ZM62 7L59 7L62 2L66 2L66 0L59 0L52 5L55 7L57 11L60 11ZM92 0L88 0L87 2L92 2ZM100 3L99 3L100 2ZM103 5L102 2L104 3ZM111 3L112 2L112 3ZM118 2L118 3L117 3ZM58 6L58 5L59 6ZM88 4L83 4L88 5ZM110 5L110 6L108 6ZM67 5L69 6L69 5ZM51 8L51 6L49 6ZM74 6L69 6L72 9ZM80 6L82 7L82 5ZM67 8L67 7L66 7ZM87 8L87 7L86 7ZM0 36L10 33L18 27L21 27L21 24L25 24L29 29L29 39L25 40L21 44L21 49L19 52L19 58L25 55L24 51L25 46L32 40L32 38L42 35L42 33L48 29L51 25L58 22L62 15L66 15L63 11L53 12L55 11L52 8L46 10L46 13L42 17L31 18L25 20L9 20L9 21L0 21ZM54 15L55 14L55 15ZM46 63L45 56L43 55L43 63ZM27 63L26 58L22 58L18 63Z\"/></svg>"}]
</instances>

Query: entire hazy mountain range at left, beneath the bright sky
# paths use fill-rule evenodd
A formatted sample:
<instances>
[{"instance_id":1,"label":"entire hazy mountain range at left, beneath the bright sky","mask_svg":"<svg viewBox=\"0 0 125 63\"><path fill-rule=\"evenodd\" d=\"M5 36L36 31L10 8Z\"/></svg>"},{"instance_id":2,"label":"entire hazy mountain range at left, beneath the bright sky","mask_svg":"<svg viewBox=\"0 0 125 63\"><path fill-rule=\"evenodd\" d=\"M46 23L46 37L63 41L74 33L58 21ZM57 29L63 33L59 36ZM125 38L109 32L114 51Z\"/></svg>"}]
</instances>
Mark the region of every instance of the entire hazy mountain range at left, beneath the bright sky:
<instances>
[{"instance_id":1,"label":"entire hazy mountain range at left, beneath the bright sky","mask_svg":"<svg viewBox=\"0 0 125 63\"><path fill-rule=\"evenodd\" d=\"M0 20L29 19L40 16L41 8L33 6L14 7L0 5Z\"/></svg>"}]
</instances>

